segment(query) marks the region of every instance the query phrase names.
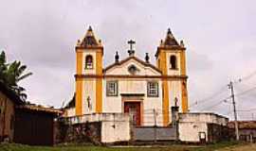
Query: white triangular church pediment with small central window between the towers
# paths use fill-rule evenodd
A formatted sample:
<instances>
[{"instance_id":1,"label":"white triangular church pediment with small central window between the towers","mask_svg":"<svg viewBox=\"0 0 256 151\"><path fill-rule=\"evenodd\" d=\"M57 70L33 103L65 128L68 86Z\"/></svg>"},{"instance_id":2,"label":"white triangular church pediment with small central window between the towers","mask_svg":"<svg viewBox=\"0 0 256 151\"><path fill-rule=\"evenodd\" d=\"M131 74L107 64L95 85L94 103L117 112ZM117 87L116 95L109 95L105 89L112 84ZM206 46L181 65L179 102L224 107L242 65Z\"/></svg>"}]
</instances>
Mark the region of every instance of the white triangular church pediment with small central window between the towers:
<instances>
[{"instance_id":1,"label":"white triangular church pediment with small central window between the towers","mask_svg":"<svg viewBox=\"0 0 256 151\"><path fill-rule=\"evenodd\" d=\"M129 57L106 67L104 75L161 76L161 71L151 63Z\"/></svg>"}]
</instances>

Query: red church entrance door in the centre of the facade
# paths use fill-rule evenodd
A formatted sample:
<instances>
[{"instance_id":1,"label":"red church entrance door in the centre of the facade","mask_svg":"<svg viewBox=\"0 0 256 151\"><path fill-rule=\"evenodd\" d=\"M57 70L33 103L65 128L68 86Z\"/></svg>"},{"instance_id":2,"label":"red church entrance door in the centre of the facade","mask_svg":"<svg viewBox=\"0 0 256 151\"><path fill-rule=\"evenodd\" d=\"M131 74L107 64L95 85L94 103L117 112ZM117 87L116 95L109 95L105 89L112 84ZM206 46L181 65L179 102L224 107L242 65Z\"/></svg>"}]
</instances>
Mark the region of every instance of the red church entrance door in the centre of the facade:
<instances>
[{"instance_id":1,"label":"red church entrance door in the centre of the facade","mask_svg":"<svg viewBox=\"0 0 256 151\"><path fill-rule=\"evenodd\" d=\"M140 126L140 102L124 102L124 112L129 113L134 126Z\"/></svg>"}]
</instances>

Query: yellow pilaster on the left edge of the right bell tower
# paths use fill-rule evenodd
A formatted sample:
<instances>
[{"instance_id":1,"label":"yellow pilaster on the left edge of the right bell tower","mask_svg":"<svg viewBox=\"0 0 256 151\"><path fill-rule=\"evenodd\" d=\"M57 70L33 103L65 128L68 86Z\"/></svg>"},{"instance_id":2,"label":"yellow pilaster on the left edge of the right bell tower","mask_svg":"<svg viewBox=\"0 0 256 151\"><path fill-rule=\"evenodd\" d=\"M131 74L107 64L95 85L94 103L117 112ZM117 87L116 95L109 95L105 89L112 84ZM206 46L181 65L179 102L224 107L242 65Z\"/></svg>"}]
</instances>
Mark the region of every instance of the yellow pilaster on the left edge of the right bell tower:
<instances>
[{"instance_id":1,"label":"yellow pilaster on the left edge of the right bell tower","mask_svg":"<svg viewBox=\"0 0 256 151\"><path fill-rule=\"evenodd\" d=\"M160 51L160 70L163 73L163 76L167 76L167 60L166 60L166 52ZM169 87L168 87L168 81L163 80L163 103L162 103L162 110L163 110L163 126L168 126L169 124Z\"/></svg>"}]
</instances>

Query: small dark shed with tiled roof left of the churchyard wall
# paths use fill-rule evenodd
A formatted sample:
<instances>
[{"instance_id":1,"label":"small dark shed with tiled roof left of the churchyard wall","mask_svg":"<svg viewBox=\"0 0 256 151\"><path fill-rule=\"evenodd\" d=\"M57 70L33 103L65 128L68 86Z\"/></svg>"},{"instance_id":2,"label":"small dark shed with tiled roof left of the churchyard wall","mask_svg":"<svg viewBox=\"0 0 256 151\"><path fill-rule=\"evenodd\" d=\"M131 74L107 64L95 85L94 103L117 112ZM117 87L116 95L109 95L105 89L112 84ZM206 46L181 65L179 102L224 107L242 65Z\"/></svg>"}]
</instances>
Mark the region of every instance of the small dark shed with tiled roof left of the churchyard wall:
<instances>
[{"instance_id":1,"label":"small dark shed with tiled roof left of the churchyard wall","mask_svg":"<svg viewBox=\"0 0 256 151\"><path fill-rule=\"evenodd\" d=\"M54 144L54 118L59 109L26 105L15 108L14 142L30 145Z\"/></svg>"}]
</instances>

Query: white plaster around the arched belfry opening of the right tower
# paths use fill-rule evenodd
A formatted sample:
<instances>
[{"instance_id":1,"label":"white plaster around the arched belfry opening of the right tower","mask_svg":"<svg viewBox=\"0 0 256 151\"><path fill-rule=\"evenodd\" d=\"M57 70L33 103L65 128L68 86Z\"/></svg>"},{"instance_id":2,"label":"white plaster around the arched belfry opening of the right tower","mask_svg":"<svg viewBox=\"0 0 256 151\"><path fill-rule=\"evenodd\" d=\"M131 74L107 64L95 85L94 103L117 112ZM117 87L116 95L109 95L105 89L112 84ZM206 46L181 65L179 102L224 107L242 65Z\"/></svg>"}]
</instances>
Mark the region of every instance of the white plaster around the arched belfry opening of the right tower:
<instances>
[{"instance_id":1,"label":"white plaster around the arched belfry opening of the right tower","mask_svg":"<svg viewBox=\"0 0 256 151\"><path fill-rule=\"evenodd\" d=\"M177 69L171 69L171 63L170 63L170 57L171 56L176 57L176 65ZM167 52L166 53L166 60L167 60L167 69L168 69L168 75L169 76L179 76L180 75L180 51L173 51L173 52Z\"/></svg>"}]
</instances>

